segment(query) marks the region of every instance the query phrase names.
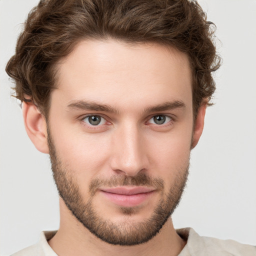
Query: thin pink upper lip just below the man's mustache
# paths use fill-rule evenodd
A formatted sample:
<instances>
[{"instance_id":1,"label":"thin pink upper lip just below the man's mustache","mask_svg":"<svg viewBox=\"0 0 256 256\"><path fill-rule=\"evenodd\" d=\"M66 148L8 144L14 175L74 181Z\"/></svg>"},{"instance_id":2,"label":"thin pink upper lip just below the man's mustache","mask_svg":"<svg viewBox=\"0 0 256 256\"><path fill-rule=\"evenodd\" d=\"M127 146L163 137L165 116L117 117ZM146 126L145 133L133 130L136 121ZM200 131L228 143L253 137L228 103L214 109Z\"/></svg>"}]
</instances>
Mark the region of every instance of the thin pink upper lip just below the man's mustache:
<instances>
[{"instance_id":1,"label":"thin pink upper lip just below the man's mustache","mask_svg":"<svg viewBox=\"0 0 256 256\"><path fill-rule=\"evenodd\" d=\"M155 190L152 187L146 186L136 186L136 187L127 187L127 186L119 186L119 187L110 187L110 188L101 188L101 191L113 193L113 194L124 194L124 195L132 195L139 193L147 193Z\"/></svg>"}]
</instances>

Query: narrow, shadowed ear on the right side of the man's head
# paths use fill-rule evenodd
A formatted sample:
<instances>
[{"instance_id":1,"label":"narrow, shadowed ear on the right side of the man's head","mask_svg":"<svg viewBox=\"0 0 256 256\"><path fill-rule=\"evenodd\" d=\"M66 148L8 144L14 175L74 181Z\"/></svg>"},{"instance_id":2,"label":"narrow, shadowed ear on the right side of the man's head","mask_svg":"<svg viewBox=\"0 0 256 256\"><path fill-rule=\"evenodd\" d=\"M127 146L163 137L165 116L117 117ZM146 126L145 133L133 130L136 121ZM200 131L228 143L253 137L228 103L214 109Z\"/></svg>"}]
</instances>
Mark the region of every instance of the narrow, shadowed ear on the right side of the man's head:
<instances>
[{"instance_id":1,"label":"narrow, shadowed ear on the right side of the man's head","mask_svg":"<svg viewBox=\"0 0 256 256\"><path fill-rule=\"evenodd\" d=\"M202 134L206 107L207 107L207 104L204 103L198 109L198 113L197 113L195 123L194 123L193 139L192 139L191 148L194 148L196 146L196 144L198 143L199 138Z\"/></svg>"}]
</instances>

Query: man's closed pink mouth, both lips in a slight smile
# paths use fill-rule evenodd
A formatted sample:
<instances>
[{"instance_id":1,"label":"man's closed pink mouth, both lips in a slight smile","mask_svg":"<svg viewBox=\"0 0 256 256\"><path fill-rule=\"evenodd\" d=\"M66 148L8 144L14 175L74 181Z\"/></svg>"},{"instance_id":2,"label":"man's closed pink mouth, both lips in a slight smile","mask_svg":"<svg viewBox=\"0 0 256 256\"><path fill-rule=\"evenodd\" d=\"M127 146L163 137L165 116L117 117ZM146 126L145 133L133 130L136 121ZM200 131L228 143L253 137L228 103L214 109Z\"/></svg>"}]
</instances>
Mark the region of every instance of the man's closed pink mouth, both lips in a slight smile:
<instances>
[{"instance_id":1,"label":"man's closed pink mouth, both lips in a slight smile","mask_svg":"<svg viewBox=\"0 0 256 256\"><path fill-rule=\"evenodd\" d=\"M101 194L114 204L122 207L134 207L148 200L156 190L150 187L111 187L101 188Z\"/></svg>"}]
</instances>

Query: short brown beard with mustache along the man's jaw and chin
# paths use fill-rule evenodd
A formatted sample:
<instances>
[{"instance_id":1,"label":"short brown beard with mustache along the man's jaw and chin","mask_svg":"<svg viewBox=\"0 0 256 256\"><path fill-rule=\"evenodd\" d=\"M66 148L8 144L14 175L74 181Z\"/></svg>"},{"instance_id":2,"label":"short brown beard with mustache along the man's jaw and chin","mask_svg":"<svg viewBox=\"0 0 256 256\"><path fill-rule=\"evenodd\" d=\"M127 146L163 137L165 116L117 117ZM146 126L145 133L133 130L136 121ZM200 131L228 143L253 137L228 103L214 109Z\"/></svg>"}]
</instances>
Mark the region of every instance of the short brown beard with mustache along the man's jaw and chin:
<instances>
[{"instance_id":1,"label":"short brown beard with mustache along the man's jaw and chin","mask_svg":"<svg viewBox=\"0 0 256 256\"><path fill-rule=\"evenodd\" d=\"M102 241L118 245L136 245L147 242L160 231L180 201L187 180L189 163L180 167L167 193L163 192L164 181L161 178L153 178L146 173L138 173L136 176L113 175L107 180L92 179L89 184L88 199L84 201L79 186L72 176L75 171L63 165L56 153L49 129L47 140L51 169L59 196L73 216ZM126 218L121 223L114 223L96 211L96 207L93 206L93 197L100 186L125 185L151 186L161 191L161 199L149 218L143 221L132 221ZM139 209L120 206L119 210L123 215L131 216Z\"/></svg>"}]
</instances>

